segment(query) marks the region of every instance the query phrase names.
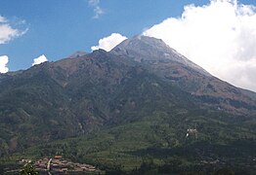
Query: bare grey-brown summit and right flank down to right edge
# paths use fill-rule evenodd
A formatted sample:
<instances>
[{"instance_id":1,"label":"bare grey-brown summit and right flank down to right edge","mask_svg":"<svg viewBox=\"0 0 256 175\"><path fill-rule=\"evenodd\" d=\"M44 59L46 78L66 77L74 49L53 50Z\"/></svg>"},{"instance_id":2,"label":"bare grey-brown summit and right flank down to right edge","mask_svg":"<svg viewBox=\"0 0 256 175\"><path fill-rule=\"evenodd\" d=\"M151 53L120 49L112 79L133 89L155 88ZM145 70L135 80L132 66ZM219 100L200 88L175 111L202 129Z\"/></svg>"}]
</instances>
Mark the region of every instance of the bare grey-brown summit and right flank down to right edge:
<instances>
[{"instance_id":1,"label":"bare grey-brown summit and right flank down to right edge","mask_svg":"<svg viewBox=\"0 0 256 175\"><path fill-rule=\"evenodd\" d=\"M136 36L116 46L111 53L143 63L165 82L192 93L199 103L243 115L256 110L252 94L213 77L161 40Z\"/></svg>"}]
</instances>

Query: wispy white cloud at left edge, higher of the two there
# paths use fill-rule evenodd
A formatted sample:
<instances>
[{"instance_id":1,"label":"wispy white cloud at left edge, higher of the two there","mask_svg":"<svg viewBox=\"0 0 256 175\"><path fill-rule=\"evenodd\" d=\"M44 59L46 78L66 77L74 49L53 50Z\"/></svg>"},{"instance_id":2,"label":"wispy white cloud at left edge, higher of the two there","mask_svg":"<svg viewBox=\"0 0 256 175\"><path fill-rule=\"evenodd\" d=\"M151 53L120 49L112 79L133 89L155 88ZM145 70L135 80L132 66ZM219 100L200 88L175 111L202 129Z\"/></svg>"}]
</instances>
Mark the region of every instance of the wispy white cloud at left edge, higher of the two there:
<instances>
[{"instance_id":1,"label":"wispy white cloud at left edge, higher of the two there","mask_svg":"<svg viewBox=\"0 0 256 175\"><path fill-rule=\"evenodd\" d=\"M23 35L26 31L27 29L21 31L13 28L7 18L0 16L0 45L6 44L12 39Z\"/></svg>"}]
</instances>

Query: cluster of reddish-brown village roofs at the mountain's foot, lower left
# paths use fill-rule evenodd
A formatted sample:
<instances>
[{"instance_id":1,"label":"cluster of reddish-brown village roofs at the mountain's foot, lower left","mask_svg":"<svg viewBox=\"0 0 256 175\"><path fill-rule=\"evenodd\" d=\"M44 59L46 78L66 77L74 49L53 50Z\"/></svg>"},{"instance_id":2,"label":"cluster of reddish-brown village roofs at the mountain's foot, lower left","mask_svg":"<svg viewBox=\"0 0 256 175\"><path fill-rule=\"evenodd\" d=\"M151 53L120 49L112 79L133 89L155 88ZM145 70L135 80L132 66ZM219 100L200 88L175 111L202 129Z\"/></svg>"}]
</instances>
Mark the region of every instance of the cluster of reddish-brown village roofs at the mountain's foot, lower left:
<instances>
[{"instance_id":1,"label":"cluster of reddish-brown village roofs at the mountain's foot, lower left","mask_svg":"<svg viewBox=\"0 0 256 175\"><path fill-rule=\"evenodd\" d=\"M29 163L30 159L21 159L20 163ZM44 157L36 160L33 163L35 169L40 172L47 172L48 174L69 174L69 173L100 173L95 166L86 163L76 163L64 159L62 156Z\"/></svg>"}]
</instances>

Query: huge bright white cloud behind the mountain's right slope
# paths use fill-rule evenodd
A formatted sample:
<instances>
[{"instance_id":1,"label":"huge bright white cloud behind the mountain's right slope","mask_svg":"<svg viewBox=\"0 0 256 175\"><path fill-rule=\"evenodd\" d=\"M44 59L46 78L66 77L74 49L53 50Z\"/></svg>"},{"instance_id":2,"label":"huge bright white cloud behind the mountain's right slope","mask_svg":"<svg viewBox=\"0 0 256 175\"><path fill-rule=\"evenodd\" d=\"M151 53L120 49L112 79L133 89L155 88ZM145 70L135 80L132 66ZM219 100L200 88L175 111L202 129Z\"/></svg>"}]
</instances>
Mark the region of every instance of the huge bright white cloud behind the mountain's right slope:
<instances>
[{"instance_id":1,"label":"huge bright white cloud behind the mountain's right slope","mask_svg":"<svg viewBox=\"0 0 256 175\"><path fill-rule=\"evenodd\" d=\"M236 0L186 6L144 35L160 38L213 75L256 91L256 7Z\"/></svg>"}]
</instances>

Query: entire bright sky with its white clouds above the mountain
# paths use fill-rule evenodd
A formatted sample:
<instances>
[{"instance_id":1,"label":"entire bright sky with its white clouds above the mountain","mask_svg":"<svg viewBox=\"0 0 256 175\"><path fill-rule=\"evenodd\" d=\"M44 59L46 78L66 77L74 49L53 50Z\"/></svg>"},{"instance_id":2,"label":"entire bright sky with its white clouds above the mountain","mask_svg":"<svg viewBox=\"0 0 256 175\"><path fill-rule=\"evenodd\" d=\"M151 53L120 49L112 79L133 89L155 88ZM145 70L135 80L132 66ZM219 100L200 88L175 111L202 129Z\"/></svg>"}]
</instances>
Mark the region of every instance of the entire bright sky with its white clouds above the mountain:
<instances>
[{"instance_id":1,"label":"entire bright sky with its white clouds above the mountain","mask_svg":"<svg viewBox=\"0 0 256 175\"><path fill-rule=\"evenodd\" d=\"M109 51L144 33L256 91L255 7L255 0L1 0L0 72Z\"/></svg>"}]
</instances>

